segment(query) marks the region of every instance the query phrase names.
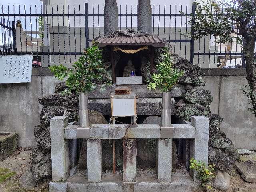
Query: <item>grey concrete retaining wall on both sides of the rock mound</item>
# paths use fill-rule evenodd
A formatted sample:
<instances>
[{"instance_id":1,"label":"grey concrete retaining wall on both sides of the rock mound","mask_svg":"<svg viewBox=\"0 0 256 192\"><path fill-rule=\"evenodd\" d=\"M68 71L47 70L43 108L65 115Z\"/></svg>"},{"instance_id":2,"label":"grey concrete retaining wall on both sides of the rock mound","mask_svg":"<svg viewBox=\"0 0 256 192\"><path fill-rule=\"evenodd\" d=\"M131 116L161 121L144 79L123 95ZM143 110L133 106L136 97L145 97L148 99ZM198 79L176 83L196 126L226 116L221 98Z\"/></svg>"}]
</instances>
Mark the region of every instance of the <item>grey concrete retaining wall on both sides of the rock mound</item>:
<instances>
[{"instance_id":1,"label":"grey concrete retaining wall on both sides of the rock mound","mask_svg":"<svg viewBox=\"0 0 256 192\"><path fill-rule=\"evenodd\" d=\"M245 69L202 69L214 101L211 110L224 118L222 130L235 148L256 149L256 118L248 112L248 99L240 90L247 85ZM35 146L34 126L42 106L38 98L54 93L59 82L47 68L33 68L32 81L0 84L0 131L19 133L22 147Z\"/></svg>"}]
</instances>

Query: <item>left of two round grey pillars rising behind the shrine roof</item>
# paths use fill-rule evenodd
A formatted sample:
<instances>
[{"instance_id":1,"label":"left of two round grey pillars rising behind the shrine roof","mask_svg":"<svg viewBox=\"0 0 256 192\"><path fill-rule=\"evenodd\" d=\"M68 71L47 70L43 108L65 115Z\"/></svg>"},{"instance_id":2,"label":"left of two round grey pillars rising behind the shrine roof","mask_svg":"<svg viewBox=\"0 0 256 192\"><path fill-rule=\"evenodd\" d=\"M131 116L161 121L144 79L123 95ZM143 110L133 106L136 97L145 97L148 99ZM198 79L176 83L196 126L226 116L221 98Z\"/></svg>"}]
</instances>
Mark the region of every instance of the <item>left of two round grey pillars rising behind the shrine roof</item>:
<instances>
[{"instance_id":1,"label":"left of two round grey pillars rising behind the shrine roof","mask_svg":"<svg viewBox=\"0 0 256 192\"><path fill-rule=\"evenodd\" d=\"M118 30L118 6L116 0L105 0L104 35Z\"/></svg>"}]
</instances>

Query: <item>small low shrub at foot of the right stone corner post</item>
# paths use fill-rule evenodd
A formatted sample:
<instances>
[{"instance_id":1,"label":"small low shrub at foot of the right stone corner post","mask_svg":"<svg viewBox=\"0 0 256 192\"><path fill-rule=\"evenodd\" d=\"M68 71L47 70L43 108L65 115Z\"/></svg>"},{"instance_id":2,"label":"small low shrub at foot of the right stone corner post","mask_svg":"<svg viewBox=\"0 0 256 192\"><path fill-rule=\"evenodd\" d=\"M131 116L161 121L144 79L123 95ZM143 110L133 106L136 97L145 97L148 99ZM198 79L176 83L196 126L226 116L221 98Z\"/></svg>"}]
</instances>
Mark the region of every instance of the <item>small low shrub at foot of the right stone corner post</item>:
<instances>
[{"instance_id":1,"label":"small low shrub at foot of the right stone corner post","mask_svg":"<svg viewBox=\"0 0 256 192\"><path fill-rule=\"evenodd\" d=\"M197 178L201 181L201 185L204 188L211 189L211 186L207 186L207 183L210 182L211 178L214 178L214 164L213 165L208 165L208 168L206 168L204 162L197 162L194 158L191 158L189 160L190 162L190 169L194 169L198 172Z\"/></svg>"}]
</instances>

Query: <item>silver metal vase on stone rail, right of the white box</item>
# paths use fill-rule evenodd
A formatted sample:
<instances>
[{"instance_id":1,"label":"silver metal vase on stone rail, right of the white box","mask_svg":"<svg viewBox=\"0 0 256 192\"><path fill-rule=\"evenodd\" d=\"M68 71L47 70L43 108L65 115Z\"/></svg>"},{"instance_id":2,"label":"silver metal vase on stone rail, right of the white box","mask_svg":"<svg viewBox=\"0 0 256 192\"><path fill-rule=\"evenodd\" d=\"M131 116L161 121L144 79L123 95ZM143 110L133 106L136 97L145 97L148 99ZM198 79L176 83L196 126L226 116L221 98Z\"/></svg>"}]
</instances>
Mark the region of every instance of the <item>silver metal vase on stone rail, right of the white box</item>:
<instances>
[{"instance_id":1,"label":"silver metal vase on stone rail, right of the white box","mask_svg":"<svg viewBox=\"0 0 256 192\"><path fill-rule=\"evenodd\" d=\"M170 109L170 92L163 92L162 96L162 126L169 127L172 124Z\"/></svg>"}]
</instances>

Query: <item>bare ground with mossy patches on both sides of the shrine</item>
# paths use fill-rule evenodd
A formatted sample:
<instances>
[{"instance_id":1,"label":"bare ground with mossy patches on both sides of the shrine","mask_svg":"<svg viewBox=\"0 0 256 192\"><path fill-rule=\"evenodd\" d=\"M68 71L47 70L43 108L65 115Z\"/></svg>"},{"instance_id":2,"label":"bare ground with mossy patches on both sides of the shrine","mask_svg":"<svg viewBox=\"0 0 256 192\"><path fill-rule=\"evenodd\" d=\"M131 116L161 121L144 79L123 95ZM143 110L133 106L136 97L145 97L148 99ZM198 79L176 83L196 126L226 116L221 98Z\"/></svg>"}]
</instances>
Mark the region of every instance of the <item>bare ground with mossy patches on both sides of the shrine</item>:
<instances>
[{"instance_id":1,"label":"bare ground with mossy patches on both sides of the shrine","mask_svg":"<svg viewBox=\"0 0 256 192\"><path fill-rule=\"evenodd\" d=\"M0 161L0 192L48 192L50 178L38 183L33 189L22 188L19 178L30 168L31 148L18 148L8 159ZM256 184L244 182L236 170L230 177L230 189L227 192L256 192ZM219 192L212 189L212 192Z\"/></svg>"}]
</instances>

